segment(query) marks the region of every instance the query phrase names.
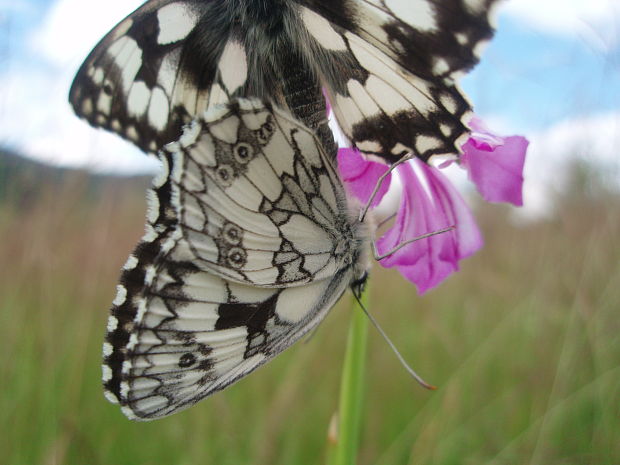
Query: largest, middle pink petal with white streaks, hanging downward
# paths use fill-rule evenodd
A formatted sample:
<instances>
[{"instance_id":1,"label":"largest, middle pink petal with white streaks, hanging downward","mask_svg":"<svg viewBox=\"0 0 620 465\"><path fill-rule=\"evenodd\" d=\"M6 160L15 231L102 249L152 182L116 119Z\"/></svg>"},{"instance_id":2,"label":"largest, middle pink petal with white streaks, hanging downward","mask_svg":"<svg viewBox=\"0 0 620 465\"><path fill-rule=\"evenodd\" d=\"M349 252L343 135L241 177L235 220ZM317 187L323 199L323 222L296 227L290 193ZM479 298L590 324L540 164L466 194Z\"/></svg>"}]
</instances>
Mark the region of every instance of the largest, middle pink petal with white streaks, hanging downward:
<instances>
[{"instance_id":1,"label":"largest, middle pink petal with white streaks, hanging downward","mask_svg":"<svg viewBox=\"0 0 620 465\"><path fill-rule=\"evenodd\" d=\"M380 254L423 234L456 226L454 231L413 242L379 263L396 267L420 294L458 270L459 260L482 246L480 231L469 208L449 181L432 166L414 160L427 181L425 189L412 164L399 166L403 198L394 226L377 241Z\"/></svg>"}]
</instances>

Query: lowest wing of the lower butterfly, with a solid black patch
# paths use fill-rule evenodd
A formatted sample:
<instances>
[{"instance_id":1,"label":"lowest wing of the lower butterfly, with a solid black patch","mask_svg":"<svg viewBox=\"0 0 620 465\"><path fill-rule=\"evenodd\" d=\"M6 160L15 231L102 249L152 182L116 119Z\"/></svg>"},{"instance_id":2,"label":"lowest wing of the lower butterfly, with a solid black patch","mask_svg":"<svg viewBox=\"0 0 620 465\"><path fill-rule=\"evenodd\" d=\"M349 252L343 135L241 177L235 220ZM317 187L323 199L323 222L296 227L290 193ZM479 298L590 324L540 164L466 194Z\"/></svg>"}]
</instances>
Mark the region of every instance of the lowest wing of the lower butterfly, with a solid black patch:
<instances>
[{"instance_id":1,"label":"lowest wing of the lower butterfly, with a solid black patch","mask_svg":"<svg viewBox=\"0 0 620 465\"><path fill-rule=\"evenodd\" d=\"M141 293L121 285L127 303L117 297L112 310L103 379L131 419L187 408L269 361L323 319L350 279L343 270L292 288L246 286L199 270L176 247ZM114 327L130 308L133 318Z\"/></svg>"}]
</instances>

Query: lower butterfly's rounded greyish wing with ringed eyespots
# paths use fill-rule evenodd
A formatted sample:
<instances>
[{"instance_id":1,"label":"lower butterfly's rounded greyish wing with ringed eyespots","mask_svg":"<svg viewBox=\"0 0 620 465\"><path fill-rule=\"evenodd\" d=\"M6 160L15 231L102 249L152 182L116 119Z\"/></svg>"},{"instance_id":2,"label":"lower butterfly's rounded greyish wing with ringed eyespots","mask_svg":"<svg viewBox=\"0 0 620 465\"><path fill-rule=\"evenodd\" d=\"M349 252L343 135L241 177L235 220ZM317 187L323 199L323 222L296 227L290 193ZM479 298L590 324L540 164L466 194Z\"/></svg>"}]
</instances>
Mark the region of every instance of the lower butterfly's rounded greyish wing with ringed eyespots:
<instances>
[{"instance_id":1,"label":"lower butterfly's rounded greyish wing with ringed eyespots","mask_svg":"<svg viewBox=\"0 0 620 465\"><path fill-rule=\"evenodd\" d=\"M212 108L166 148L194 263L257 286L328 278L346 224L338 175L312 132L254 105Z\"/></svg>"}]
</instances>

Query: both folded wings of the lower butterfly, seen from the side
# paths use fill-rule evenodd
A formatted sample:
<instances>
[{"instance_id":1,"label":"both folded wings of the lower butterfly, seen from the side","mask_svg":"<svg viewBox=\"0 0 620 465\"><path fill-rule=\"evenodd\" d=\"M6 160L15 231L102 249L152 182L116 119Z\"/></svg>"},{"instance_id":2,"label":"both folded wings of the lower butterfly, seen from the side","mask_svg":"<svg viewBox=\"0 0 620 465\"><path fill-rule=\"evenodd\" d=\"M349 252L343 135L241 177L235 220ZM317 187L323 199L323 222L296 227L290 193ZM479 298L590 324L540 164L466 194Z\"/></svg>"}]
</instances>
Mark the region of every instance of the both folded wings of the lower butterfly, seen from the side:
<instances>
[{"instance_id":1,"label":"both folded wings of the lower butterfly, seen from the side","mask_svg":"<svg viewBox=\"0 0 620 465\"><path fill-rule=\"evenodd\" d=\"M217 105L159 156L103 349L106 396L142 420L193 405L315 327L366 244L332 162L288 113Z\"/></svg>"}]
</instances>

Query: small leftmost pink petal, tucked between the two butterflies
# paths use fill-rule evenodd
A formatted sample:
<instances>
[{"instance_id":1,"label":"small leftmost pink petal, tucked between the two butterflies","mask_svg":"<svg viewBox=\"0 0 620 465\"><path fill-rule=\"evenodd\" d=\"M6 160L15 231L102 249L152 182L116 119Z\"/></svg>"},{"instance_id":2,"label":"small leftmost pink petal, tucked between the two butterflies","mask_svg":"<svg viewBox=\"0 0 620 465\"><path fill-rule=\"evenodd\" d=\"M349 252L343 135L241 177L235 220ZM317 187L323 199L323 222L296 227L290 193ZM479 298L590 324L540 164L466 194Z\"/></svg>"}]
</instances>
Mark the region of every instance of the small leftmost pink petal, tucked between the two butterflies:
<instances>
[{"instance_id":1,"label":"small leftmost pink petal, tucked between the two butterflies","mask_svg":"<svg viewBox=\"0 0 620 465\"><path fill-rule=\"evenodd\" d=\"M384 163L366 160L356 149L338 150L338 172L345 183L347 190L357 197L362 204L366 204L372 195L379 178L389 170ZM379 205L383 196L390 188L392 175L388 174L381 183L371 207Z\"/></svg>"}]
</instances>

